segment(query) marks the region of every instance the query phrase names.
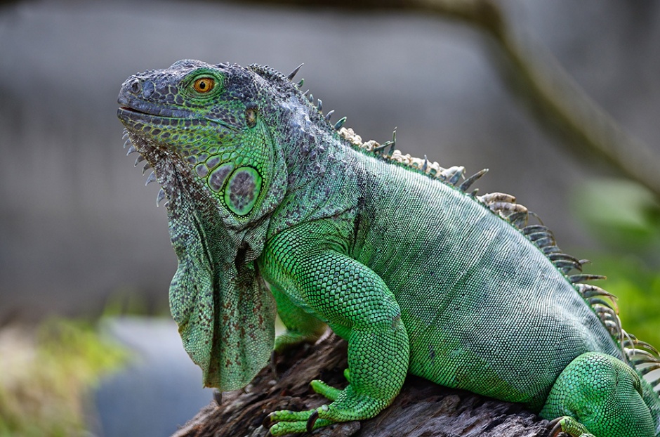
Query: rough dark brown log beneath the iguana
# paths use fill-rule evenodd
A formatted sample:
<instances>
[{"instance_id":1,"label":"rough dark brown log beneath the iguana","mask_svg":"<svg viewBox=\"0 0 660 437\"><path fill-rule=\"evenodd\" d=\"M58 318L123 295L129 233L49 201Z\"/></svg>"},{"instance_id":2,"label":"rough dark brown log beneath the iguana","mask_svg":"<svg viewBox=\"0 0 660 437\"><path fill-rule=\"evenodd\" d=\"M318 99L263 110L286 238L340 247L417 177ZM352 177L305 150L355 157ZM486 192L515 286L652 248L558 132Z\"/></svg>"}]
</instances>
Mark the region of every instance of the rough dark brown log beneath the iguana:
<instances>
[{"instance_id":1,"label":"rough dark brown log beneath the iguana","mask_svg":"<svg viewBox=\"0 0 660 437\"><path fill-rule=\"evenodd\" d=\"M309 388L312 379L346 384L346 343L334 335L275 358L279 376L265 367L245 391L223 393L173 437L266 436L263 419L275 410L307 410L329 401ZM218 396L219 397L219 396ZM336 424L313 433L338 437L546 437L548 421L521 405L447 389L409 376L394 403L374 419ZM306 434L297 434L298 436Z\"/></svg>"}]
</instances>

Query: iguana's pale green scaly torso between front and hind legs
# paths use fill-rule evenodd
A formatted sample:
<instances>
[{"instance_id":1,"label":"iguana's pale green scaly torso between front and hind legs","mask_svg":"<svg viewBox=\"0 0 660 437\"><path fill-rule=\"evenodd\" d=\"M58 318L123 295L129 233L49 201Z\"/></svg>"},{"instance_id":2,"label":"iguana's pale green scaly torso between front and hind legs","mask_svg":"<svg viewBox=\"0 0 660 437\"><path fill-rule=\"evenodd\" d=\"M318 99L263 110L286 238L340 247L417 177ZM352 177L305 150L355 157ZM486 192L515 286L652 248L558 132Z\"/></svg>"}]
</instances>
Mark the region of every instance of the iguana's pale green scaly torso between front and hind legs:
<instances>
[{"instance_id":1,"label":"iguana's pale green scaly torso between front and hind legs","mask_svg":"<svg viewBox=\"0 0 660 437\"><path fill-rule=\"evenodd\" d=\"M577 356L623 359L593 309L522 231L453 185L359 158L367 175L383 176L369 183L358 171L364 200L350 254L395 295L409 372L538 411Z\"/></svg>"}]
</instances>

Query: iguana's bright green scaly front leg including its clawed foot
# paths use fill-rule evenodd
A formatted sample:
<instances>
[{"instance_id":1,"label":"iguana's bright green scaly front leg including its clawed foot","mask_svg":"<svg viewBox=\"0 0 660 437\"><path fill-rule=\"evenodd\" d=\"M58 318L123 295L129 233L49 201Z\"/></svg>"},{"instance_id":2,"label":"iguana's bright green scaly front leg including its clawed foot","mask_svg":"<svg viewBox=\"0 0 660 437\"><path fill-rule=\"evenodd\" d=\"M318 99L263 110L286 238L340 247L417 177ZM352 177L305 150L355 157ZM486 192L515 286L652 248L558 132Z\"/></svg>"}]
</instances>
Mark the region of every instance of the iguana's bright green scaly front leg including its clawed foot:
<instances>
[{"instance_id":1,"label":"iguana's bright green scaly front leg including its clawed foot","mask_svg":"<svg viewBox=\"0 0 660 437\"><path fill-rule=\"evenodd\" d=\"M341 253L341 244L323 228L317 222L277 235L260 265L292 302L348 340L350 384L340 391L315 381L312 387L333 402L316 410L271 413L275 436L305 431L308 424L317 429L374 417L392 403L407 374L408 337L394 296L376 273Z\"/></svg>"}]
</instances>

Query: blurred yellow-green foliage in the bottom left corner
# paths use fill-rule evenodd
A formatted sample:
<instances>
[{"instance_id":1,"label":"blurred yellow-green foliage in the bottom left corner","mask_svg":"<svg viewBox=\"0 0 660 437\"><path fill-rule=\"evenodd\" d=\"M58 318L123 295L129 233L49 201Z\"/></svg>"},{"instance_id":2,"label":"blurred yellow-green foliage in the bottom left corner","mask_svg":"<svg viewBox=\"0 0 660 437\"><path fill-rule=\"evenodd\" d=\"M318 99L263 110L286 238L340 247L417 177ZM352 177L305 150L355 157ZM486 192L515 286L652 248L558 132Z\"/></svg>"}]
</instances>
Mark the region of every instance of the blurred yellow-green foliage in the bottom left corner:
<instances>
[{"instance_id":1,"label":"blurred yellow-green foliage in the bottom left corner","mask_svg":"<svg viewBox=\"0 0 660 437\"><path fill-rule=\"evenodd\" d=\"M0 437L84 435L88 390L126 351L88 322L0 330Z\"/></svg>"}]
</instances>

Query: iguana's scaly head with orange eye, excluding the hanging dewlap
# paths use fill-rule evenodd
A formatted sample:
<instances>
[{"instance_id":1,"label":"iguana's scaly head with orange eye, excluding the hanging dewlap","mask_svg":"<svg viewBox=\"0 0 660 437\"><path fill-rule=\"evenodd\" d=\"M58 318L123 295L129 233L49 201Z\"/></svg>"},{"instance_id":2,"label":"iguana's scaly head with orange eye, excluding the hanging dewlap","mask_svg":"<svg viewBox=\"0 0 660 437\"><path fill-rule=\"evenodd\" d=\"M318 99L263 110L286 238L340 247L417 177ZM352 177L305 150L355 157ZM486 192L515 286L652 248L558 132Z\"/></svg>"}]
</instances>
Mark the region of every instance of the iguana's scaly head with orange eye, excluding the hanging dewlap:
<instances>
[{"instance_id":1,"label":"iguana's scaly head with orange eye, excluding the hanging dewlap","mask_svg":"<svg viewBox=\"0 0 660 437\"><path fill-rule=\"evenodd\" d=\"M272 117L274 91L239 65L180 60L129 77L118 116L131 140L143 139L133 145L157 176L159 155L187 164L226 226L244 228L272 211L286 189L282 150L264 119Z\"/></svg>"}]
</instances>

